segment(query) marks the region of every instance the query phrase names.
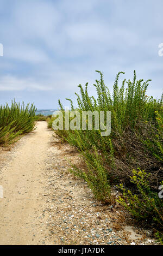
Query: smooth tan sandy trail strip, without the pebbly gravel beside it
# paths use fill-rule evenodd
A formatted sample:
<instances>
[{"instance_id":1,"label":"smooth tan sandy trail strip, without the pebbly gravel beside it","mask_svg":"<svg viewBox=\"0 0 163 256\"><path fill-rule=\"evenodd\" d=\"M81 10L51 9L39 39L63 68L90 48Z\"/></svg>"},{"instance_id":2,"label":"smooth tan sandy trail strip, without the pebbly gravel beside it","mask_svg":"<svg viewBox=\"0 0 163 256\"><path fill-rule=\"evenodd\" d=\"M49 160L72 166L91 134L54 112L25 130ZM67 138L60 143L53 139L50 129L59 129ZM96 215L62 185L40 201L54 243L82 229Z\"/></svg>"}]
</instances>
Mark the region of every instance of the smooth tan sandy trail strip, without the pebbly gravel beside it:
<instances>
[{"instance_id":1,"label":"smooth tan sandy trail strip, without the pebbly gravel beside it","mask_svg":"<svg viewBox=\"0 0 163 256\"><path fill-rule=\"evenodd\" d=\"M42 243L46 217L42 210L46 197L46 157L52 132L46 122L37 122L37 129L24 136L14 147L7 165L0 169L0 185L4 198L0 199L0 244L34 245Z\"/></svg>"}]
</instances>

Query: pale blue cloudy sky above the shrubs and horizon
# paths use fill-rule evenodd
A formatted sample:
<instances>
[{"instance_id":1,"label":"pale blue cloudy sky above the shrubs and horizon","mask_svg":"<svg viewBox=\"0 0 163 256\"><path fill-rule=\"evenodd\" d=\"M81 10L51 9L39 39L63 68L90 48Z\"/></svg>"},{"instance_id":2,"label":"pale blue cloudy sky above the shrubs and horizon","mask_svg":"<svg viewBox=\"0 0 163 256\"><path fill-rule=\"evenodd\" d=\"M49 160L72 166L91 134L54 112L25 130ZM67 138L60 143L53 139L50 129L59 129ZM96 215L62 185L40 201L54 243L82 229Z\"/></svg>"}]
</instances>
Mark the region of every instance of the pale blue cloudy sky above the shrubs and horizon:
<instances>
[{"instance_id":1,"label":"pale blue cloudy sky above the shrubs and horizon","mask_svg":"<svg viewBox=\"0 0 163 256\"><path fill-rule=\"evenodd\" d=\"M159 98L162 10L162 0L0 0L0 104L15 98L56 109L86 82L95 96L95 70L110 90L119 71L133 79L136 70Z\"/></svg>"}]
</instances>

